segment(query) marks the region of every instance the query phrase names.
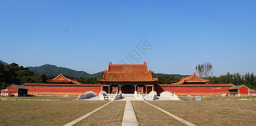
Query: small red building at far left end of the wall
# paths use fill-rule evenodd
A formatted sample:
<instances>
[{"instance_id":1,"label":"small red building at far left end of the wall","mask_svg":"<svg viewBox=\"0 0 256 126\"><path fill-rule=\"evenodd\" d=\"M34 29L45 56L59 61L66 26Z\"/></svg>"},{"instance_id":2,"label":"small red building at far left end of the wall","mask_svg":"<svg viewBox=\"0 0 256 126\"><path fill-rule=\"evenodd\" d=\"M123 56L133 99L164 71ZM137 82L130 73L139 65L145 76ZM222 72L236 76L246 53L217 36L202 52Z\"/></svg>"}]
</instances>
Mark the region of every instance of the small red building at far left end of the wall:
<instances>
[{"instance_id":1,"label":"small red building at far left end of the wall","mask_svg":"<svg viewBox=\"0 0 256 126\"><path fill-rule=\"evenodd\" d=\"M15 85L12 84L11 86L7 87L8 96L27 96L28 95L28 88L22 85Z\"/></svg>"}]
</instances>

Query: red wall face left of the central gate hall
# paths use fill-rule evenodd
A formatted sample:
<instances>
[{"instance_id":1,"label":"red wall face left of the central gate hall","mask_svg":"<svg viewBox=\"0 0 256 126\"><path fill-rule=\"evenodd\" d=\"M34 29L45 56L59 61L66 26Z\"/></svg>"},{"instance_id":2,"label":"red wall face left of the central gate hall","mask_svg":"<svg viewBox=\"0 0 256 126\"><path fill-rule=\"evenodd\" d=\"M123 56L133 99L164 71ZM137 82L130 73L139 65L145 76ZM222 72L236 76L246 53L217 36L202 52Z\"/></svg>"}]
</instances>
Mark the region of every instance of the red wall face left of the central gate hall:
<instances>
[{"instance_id":1,"label":"red wall face left of the central gate hall","mask_svg":"<svg viewBox=\"0 0 256 126\"><path fill-rule=\"evenodd\" d=\"M25 86L28 88L28 94L38 95L83 95L87 91L93 91L96 95L99 95L101 87L32 87Z\"/></svg>"}]
</instances>

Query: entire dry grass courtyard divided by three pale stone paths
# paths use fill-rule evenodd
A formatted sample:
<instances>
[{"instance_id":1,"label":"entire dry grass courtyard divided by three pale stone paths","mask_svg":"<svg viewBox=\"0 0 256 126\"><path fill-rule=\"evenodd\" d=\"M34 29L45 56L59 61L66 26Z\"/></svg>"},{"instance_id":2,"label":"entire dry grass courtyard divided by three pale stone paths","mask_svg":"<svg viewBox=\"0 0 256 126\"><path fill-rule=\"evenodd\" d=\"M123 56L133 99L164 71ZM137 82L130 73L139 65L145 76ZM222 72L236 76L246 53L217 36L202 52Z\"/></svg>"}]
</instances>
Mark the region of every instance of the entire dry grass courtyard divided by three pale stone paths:
<instances>
[{"instance_id":1,"label":"entire dry grass courtyard divided by three pale stone paths","mask_svg":"<svg viewBox=\"0 0 256 126\"><path fill-rule=\"evenodd\" d=\"M0 100L0 126L63 126L107 102ZM198 126L256 125L256 100L147 102ZM119 126L124 106L125 101L113 101L76 125ZM143 101L132 101L132 106L140 126L184 125Z\"/></svg>"}]
</instances>

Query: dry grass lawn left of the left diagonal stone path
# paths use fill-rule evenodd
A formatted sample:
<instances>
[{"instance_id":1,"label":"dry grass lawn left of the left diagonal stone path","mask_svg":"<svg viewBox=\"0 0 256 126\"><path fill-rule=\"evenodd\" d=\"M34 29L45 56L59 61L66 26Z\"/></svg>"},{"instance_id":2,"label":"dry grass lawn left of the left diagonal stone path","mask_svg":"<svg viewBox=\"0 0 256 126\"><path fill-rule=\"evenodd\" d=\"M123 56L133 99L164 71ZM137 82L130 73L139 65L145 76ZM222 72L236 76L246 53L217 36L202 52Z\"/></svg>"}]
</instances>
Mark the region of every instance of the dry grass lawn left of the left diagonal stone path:
<instances>
[{"instance_id":1,"label":"dry grass lawn left of the left diagonal stone path","mask_svg":"<svg viewBox=\"0 0 256 126\"><path fill-rule=\"evenodd\" d=\"M63 126L107 102L0 100L0 125Z\"/></svg>"}]
</instances>

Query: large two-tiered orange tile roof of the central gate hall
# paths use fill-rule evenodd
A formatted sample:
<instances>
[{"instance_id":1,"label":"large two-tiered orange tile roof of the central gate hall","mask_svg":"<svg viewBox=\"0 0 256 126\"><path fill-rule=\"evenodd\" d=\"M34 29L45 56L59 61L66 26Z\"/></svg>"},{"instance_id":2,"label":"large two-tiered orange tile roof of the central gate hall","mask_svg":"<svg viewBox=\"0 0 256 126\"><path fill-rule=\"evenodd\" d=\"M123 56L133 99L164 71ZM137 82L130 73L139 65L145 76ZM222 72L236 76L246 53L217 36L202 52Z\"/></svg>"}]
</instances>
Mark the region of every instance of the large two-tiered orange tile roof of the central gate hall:
<instances>
[{"instance_id":1,"label":"large two-tiered orange tile roof of the central gate hall","mask_svg":"<svg viewBox=\"0 0 256 126\"><path fill-rule=\"evenodd\" d=\"M148 71L146 62L144 64L112 64L109 63L108 71L102 71L103 78L98 81L116 81L116 82L143 82L143 81L158 81L152 78L154 71Z\"/></svg>"}]
</instances>

